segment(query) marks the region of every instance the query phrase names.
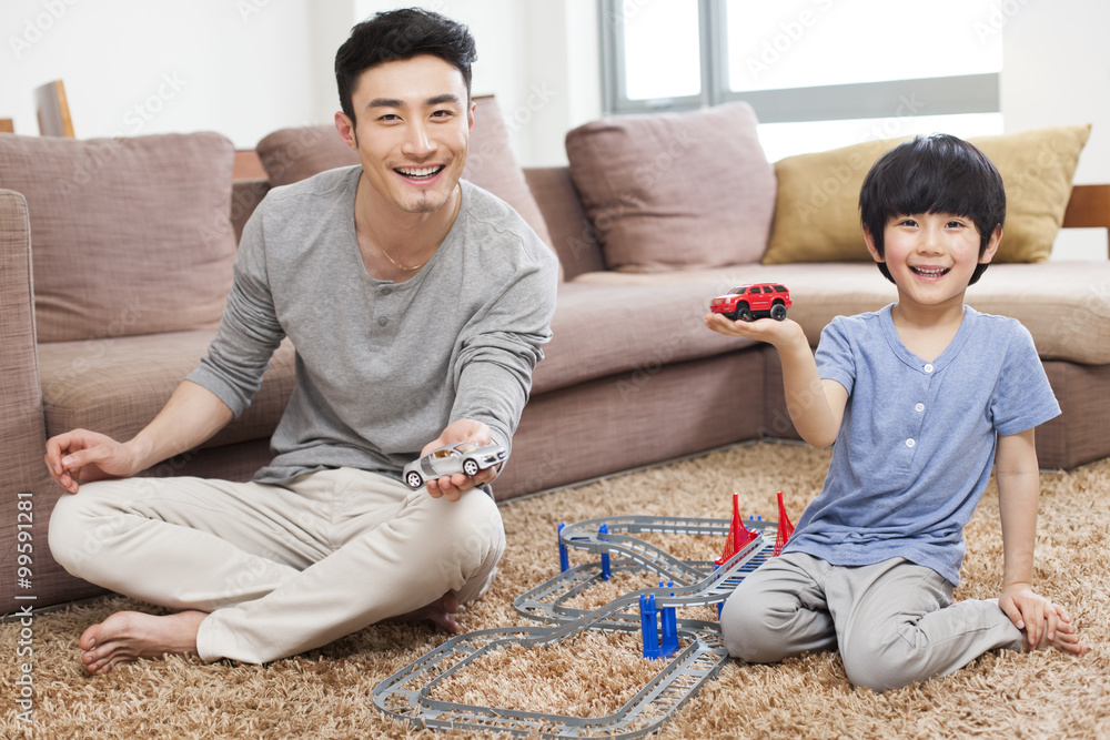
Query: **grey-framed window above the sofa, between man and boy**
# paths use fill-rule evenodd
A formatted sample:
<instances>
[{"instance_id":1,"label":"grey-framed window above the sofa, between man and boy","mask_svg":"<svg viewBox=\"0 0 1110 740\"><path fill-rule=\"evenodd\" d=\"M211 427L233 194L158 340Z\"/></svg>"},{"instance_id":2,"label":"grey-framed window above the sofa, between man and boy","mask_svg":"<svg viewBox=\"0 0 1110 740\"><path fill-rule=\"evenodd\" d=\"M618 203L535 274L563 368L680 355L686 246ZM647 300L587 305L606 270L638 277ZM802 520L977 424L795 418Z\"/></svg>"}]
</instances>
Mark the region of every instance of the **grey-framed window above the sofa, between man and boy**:
<instances>
[{"instance_id":1,"label":"grey-framed window above the sofa, between man and boy","mask_svg":"<svg viewBox=\"0 0 1110 740\"><path fill-rule=\"evenodd\" d=\"M1001 133L991 0L602 0L608 113L751 104L768 159Z\"/></svg>"}]
</instances>

